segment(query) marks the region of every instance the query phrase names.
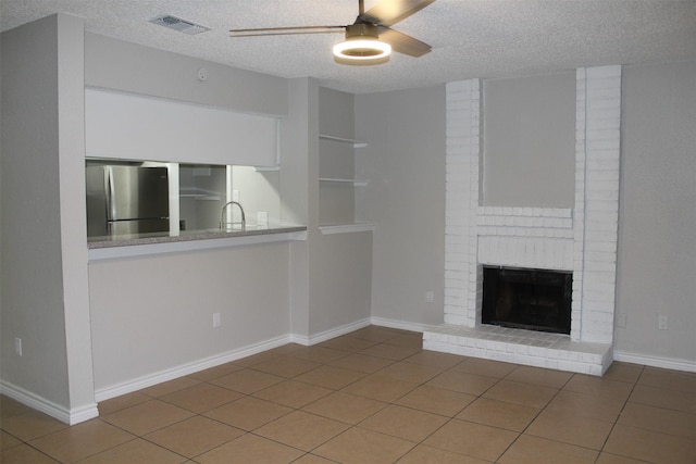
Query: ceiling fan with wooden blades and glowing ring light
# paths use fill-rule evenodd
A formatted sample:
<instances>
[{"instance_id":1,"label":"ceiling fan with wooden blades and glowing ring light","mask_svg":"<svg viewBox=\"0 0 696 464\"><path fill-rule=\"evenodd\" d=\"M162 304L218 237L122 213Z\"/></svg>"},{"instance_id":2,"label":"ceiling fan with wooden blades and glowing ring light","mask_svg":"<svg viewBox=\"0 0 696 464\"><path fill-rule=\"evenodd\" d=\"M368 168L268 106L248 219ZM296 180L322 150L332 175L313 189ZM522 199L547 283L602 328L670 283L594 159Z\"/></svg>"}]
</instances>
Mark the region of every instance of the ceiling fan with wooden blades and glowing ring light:
<instances>
[{"instance_id":1,"label":"ceiling fan with wooden blades and glowing ring light","mask_svg":"<svg viewBox=\"0 0 696 464\"><path fill-rule=\"evenodd\" d=\"M364 11L364 0L358 0L355 23L336 26L262 27L231 29L232 37L331 34L345 32L346 39L334 46L334 60L341 64L381 64L391 51L409 57L422 57L431 46L391 28L435 0L383 0Z\"/></svg>"}]
</instances>

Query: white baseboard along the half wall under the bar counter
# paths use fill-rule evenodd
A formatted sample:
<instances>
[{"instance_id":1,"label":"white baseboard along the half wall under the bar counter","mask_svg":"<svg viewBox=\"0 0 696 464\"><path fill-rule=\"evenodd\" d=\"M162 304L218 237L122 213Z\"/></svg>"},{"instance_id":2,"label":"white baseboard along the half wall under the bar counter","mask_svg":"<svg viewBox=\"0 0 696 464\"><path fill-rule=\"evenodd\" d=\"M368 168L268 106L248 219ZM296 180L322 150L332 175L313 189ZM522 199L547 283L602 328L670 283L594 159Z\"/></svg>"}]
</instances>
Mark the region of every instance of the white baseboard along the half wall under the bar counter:
<instances>
[{"instance_id":1,"label":"white baseboard along the half wall under the bar counter","mask_svg":"<svg viewBox=\"0 0 696 464\"><path fill-rule=\"evenodd\" d=\"M124 381L122 384L100 388L99 390L95 390L95 400L97 402L109 400L110 398L120 397L122 394L130 393L133 391L151 387L153 385L161 384L163 381L173 380L175 378L194 374L199 371L203 371L210 367L215 367L232 361L240 360L243 358L261 353L263 351L271 350L273 348L282 347L290 342L291 342L290 336L283 335L276 338L269 339L266 341L249 344L247 347L228 351L226 353L203 358L202 360L182 364L176 367L160 371L158 373L149 374L139 378Z\"/></svg>"}]
</instances>

